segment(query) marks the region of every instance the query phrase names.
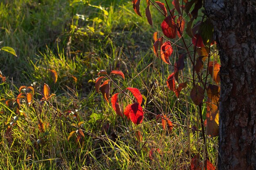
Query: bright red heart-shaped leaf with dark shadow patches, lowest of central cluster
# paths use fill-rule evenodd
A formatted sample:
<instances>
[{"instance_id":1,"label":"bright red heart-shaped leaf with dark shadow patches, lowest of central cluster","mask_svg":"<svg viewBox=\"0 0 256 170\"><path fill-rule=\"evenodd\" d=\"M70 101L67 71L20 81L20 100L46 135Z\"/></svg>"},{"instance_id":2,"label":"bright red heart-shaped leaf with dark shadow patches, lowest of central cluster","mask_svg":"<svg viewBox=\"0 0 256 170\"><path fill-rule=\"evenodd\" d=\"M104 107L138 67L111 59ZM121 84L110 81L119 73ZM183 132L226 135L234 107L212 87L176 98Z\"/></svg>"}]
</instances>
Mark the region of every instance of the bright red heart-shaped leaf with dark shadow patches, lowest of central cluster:
<instances>
[{"instance_id":1,"label":"bright red heart-shaped leaf with dark shadow patches, lowest of central cluster","mask_svg":"<svg viewBox=\"0 0 256 170\"><path fill-rule=\"evenodd\" d=\"M141 124L144 113L142 107L139 104L134 103L126 106L126 108L124 109L124 115L129 115L131 121L134 124Z\"/></svg>"}]
</instances>

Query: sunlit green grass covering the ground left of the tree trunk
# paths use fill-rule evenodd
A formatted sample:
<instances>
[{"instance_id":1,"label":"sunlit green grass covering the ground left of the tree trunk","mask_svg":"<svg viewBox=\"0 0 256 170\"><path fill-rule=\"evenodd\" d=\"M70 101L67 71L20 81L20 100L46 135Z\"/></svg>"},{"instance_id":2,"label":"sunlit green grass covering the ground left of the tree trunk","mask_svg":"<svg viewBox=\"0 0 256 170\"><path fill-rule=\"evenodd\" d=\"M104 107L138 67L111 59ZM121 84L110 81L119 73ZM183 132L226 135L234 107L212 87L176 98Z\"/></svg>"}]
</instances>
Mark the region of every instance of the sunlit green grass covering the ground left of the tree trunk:
<instances>
[{"instance_id":1,"label":"sunlit green grass covering the ground left of the tree trunk","mask_svg":"<svg viewBox=\"0 0 256 170\"><path fill-rule=\"evenodd\" d=\"M10 2L0 3L0 41L4 41L1 46L15 49L18 58L0 51L0 69L7 77L0 84L1 169L180 169L189 167L197 153L203 157L202 133L191 130L192 126L201 130L198 108L189 97L192 84L177 99L166 87L173 66L155 60L153 54L152 34L159 30L161 15L155 15L151 28L146 17L135 15L132 3L125 0L89 0L108 15L88 3L72 7L71 0ZM143 2L141 11L145 7ZM178 58L174 50L171 63ZM57 72L56 83L48 69ZM150 112L138 126L117 116L111 103L95 92L101 69L123 71L125 80L113 80L123 89L138 88L147 99L143 107L166 114L175 123L173 130L163 129L161 120ZM191 66L186 64L182 75L191 77L189 73ZM56 94L48 102L40 101L45 83L50 94ZM20 98L18 107L20 86L31 84L33 104ZM111 94L118 91L113 85ZM7 106L9 99L13 103ZM130 103L127 97L120 102ZM203 110L205 118L205 106ZM76 127L85 137L78 142L75 133L67 140ZM141 141L136 138L138 130ZM214 165L217 146L217 137L207 137L208 157ZM150 159L149 151L157 148L161 153L153 152Z\"/></svg>"}]
</instances>

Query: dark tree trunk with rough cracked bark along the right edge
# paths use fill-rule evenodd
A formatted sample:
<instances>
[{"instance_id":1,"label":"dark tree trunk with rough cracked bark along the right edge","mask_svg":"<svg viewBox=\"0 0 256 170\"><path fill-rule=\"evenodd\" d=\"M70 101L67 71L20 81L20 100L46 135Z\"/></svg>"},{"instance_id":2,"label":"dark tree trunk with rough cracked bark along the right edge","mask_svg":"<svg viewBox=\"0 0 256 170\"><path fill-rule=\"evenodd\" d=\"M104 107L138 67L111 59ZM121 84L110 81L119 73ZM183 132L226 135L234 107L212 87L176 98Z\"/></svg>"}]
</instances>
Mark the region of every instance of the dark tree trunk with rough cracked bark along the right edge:
<instances>
[{"instance_id":1,"label":"dark tree trunk with rough cracked bark along the right edge","mask_svg":"<svg viewBox=\"0 0 256 170\"><path fill-rule=\"evenodd\" d=\"M221 60L219 170L256 170L256 0L205 0Z\"/></svg>"}]
</instances>

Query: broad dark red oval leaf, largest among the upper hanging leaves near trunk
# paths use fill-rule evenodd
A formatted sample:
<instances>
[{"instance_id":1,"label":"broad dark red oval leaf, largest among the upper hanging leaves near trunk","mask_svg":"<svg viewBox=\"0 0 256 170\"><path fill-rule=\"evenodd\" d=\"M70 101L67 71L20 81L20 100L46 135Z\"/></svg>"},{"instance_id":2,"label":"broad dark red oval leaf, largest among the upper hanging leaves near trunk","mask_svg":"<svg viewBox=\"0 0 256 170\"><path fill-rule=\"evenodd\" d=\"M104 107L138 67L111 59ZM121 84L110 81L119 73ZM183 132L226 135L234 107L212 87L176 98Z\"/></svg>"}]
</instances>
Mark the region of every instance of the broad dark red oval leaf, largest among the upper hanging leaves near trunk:
<instances>
[{"instance_id":1,"label":"broad dark red oval leaf, largest among the upper hanging leaves near trunk","mask_svg":"<svg viewBox=\"0 0 256 170\"><path fill-rule=\"evenodd\" d=\"M173 18L171 17L171 15L168 15L164 21L161 24L162 27L162 31L164 33L164 35L168 38L175 38L176 34L177 34L177 27L176 24L173 20Z\"/></svg>"}]
</instances>

